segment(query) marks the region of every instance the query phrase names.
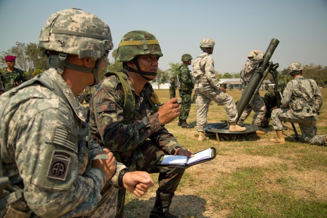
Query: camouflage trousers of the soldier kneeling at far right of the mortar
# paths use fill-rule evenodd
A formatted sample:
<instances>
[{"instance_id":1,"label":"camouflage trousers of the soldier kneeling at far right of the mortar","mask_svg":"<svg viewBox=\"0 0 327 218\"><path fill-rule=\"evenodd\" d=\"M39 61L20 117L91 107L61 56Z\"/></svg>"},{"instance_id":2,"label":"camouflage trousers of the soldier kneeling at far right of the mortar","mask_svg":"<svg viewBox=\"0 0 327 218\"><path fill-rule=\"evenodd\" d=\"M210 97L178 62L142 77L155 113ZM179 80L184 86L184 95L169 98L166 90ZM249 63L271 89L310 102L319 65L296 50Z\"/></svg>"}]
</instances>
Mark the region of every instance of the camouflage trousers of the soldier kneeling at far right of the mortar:
<instances>
[{"instance_id":1,"label":"camouflage trousers of the soldier kneeling at far right of the mortar","mask_svg":"<svg viewBox=\"0 0 327 218\"><path fill-rule=\"evenodd\" d=\"M300 127L302 138L309 144L323 146L326 143L325 135L317 135L317 118L314 116L299 116L290 109L277 108L271 113L272 127L275 131L283 130L282 122L296 123Z\"/></svg>"}]
</instances>

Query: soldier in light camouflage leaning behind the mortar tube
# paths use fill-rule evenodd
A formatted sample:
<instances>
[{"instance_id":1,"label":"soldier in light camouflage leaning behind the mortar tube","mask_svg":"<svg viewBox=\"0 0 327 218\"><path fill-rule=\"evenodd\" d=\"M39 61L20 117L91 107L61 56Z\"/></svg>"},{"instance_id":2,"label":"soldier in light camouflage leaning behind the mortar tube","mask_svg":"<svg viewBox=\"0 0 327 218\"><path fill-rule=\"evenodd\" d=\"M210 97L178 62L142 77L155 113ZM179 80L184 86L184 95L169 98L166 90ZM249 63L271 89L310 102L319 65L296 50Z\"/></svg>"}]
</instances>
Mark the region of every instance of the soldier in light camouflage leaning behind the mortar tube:
<instances>
[{"instance_id":1,"label":"soldier in light camouflage leaning behind the mortar tube","mask_svg":"<svg viewBox=\"0 0 327 218\"><path fill-rule=\"evenodd\" d=\"M244 93L247 84L251 80L252 76L254 75L256 67L264 59L264 52L260 50L251 51L248 54L247 58L248 60L245 62L241 70L242 94ZM250 115L252 110L254 111L252 124L257 127L261 127L262 119L265 117L266 114L266 106L265 102L259 94L259 91L254 94L254 98L251 104L248 104L244 108L244 111L238 120L239 125L242 126L244 120ZM265 135L265 132L258 130L256 131L256 134Z\"/></svg>"}]
</instances>

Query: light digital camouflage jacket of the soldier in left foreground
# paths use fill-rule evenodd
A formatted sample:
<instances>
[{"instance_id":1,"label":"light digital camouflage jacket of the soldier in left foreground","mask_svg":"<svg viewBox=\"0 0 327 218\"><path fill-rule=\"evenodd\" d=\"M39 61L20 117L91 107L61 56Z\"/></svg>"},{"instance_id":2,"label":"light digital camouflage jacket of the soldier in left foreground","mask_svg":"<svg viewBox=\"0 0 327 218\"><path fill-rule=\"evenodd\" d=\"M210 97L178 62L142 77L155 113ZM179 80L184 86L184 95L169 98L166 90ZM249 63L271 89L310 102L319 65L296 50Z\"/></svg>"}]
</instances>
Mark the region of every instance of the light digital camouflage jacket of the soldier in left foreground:
<instances>
[{"instance_id":1,"label":"light digital camouflage jacket of the soldier in left foreground","mask_svg":"<svg viewBox=\"0 0 327 218\"><path fill-rule=\"evenodd\" d=\"M85 215L97 207L106 182L90 161L103 148L90 139L88 129L80 136L85 112L57 71L49 69L40 77L61 87L69 104L38 82L1 95L3 105L19 89L0 117L4 175L24 181L24 197L39 216ZM117 164L108 182L118 185L123 168Z\"/></svg>"}]
</instances>

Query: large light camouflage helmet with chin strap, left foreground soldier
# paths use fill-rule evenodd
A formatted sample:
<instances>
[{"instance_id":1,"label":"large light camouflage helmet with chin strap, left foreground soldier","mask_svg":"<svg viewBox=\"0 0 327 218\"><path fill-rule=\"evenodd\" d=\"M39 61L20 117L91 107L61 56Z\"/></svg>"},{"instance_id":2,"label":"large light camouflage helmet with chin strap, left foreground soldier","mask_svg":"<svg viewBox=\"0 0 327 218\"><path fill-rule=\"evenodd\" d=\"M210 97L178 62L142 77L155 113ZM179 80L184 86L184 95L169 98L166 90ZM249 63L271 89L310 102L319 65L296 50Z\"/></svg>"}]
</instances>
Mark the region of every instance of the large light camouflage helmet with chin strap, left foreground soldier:
<instances>
[{"instance_id":1,"label":"large light camouflage helmet with chin strap, left foreground soldier","mask_svg":"<svg viewBox=\"0 0 327 218\"><path fill-rule=\"evenodd\" d=\"M112 49L109 26L94 14L70 8L53 13L41 30L38 48L48 57L51 68L62 74L65 67L94 74L99 83L98 71L102 58ZM67 55L97 60L96 67L69 63Z\"/></svg>"}]
</instances>

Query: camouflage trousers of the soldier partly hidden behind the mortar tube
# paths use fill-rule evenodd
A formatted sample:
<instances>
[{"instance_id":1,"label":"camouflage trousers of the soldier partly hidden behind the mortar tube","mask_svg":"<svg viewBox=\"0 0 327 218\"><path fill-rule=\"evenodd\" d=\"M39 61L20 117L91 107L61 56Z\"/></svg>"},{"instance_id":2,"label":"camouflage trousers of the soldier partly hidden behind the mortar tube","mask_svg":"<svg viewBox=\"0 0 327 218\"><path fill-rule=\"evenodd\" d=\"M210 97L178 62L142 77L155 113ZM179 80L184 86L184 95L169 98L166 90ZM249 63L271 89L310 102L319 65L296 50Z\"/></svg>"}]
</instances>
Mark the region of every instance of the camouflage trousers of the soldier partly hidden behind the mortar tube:
<instances>
[{"instance_id":1,"label":"camouflage trousers of the soldier partly hidden behind the mortar tube","mask_svg":"<svg viewBox=\"0 0 327 218\"><path fill-rule=\"evenodd\" d=\"M242 90L242 95L244 91L245 89ZM261 125L262 119L266 114L266 105L259 93L256 93L251 104L248 104L244 108L244 111L239 118L238 124L243 124L244 120L250 115L252 110L254 111L252 124L259 127Z\"/></svg>"}]
</instances>

